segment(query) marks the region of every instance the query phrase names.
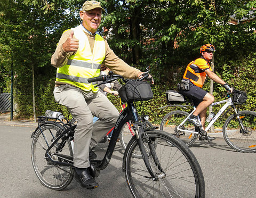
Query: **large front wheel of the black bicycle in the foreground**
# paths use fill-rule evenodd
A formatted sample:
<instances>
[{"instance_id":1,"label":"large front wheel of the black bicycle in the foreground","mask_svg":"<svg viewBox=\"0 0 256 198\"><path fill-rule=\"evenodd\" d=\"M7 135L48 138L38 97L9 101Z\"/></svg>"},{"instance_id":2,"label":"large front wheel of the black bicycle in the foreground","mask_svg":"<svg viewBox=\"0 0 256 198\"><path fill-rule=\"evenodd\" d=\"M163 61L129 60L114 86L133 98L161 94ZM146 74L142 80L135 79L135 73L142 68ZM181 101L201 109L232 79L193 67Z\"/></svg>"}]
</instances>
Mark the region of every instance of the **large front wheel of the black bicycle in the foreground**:
<instances>
[{"instance_id":1,"label":"large front wheel of the black bicycle in the foreground","mask_svg":"<svg viewBox=\"0 0 256 198\"><path fill-rule=\"evenodd\" d=\"M158 180L151 178L143 159L132 157L133 151L139 149L133 137L125 150L123 167L132 195L143 198L205 197L203 172L189 148L164 131L147 131L147 135L149 143L143 145ZM149 144L154 145L154 149L150 150Z\"/></svg>"}]
</instances>

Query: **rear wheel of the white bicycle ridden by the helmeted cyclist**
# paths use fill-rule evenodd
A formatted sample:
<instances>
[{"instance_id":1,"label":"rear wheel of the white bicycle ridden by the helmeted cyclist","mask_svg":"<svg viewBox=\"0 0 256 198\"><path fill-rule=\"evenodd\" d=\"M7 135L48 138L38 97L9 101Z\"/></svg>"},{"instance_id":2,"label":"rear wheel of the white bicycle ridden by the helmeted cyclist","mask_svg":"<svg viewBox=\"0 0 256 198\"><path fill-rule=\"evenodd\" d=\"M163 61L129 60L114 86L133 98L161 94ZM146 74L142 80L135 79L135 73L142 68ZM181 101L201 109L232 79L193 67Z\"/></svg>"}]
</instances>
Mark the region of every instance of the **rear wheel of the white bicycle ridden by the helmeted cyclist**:
<instances>
[{"instance_id":1,"label":"rear wheel of the white bicycle ridden by the helmeted cyclist","mask_svg":"<svg viewBox=\"0 0 256 198\"><path fill-rule=\"evenodd\" d=\"M177 126L180 125L180 123L185 120L188 115L188 112L180 110L167 113L161 121L160 130L166 131L167 133L180 138L181 141L184 142L187 146L191 146L196 141L198 134L189 132L185 133L177 130ZM180 128L196 131L195 126L189 121L186 121Z\"/></svg>"}]
</instances>

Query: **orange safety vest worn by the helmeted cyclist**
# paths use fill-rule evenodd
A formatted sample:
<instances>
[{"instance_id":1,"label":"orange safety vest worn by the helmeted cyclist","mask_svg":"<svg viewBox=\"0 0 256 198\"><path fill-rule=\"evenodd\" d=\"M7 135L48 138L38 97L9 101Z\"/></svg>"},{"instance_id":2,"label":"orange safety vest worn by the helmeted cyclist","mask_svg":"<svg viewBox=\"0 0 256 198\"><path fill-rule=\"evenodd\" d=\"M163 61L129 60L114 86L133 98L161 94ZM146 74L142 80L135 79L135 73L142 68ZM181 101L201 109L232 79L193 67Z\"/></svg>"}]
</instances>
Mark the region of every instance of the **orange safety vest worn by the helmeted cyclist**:
<instances>
[{"instance_id":1,"label":"orange safety vest worn by the helmeted cyclist","mask_svg":"<svg viewBox=\"0 0 256 198\"><path fill-rule=\"evenodd\" d=\"M206 61L205 61L206 62ZM187 68L186 71L183 75L184 79L189 79L191 83L193 83L195 86L197 87L203 87L204 82L206 80L206 73L201 70L200 68L197 67L196 64L194 64L195 61L191 61ZM210 70L212 71L210 64L208 62L206 62L207 65L209 66Z\"/></svg>"}]
</instances>

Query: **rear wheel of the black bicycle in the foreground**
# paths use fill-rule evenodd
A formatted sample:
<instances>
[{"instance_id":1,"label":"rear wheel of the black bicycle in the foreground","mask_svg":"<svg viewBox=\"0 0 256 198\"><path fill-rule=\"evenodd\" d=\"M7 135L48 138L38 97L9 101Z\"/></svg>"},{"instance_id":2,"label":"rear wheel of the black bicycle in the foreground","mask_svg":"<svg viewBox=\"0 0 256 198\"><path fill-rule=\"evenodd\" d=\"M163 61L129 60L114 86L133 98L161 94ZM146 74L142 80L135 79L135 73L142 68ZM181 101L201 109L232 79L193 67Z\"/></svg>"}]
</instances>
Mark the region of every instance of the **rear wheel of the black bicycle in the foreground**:
<instances>
[{"instance_id":1,"label":"rear wheel of the black bicycle in the foreground","mask_svg":"<svg viewBox=\"0 0 256 198\"><path fill-rule=\"evenodd\" d=\"M45 151L49 146L47 145L45 138L49 145L51 145L56 133L59 133L60 130L63 130L64 128L59 123L49 121L43 125L41 129L42 132L39 128L37 129L31 145L31 161L33 168L36 176L45 187L59 191L66 188L71 183L75 168L60 166L47 161L45 159ZM57 144L60 141L58 141ZM57 144L56 146L53 146L49 152L54 160L62 160L58 158L58 156L54 155L54 153L65 154L73 157L73 150L69 139L66 139L65 146L60 152L55 151Z\"/></svg>"}]
</instances>

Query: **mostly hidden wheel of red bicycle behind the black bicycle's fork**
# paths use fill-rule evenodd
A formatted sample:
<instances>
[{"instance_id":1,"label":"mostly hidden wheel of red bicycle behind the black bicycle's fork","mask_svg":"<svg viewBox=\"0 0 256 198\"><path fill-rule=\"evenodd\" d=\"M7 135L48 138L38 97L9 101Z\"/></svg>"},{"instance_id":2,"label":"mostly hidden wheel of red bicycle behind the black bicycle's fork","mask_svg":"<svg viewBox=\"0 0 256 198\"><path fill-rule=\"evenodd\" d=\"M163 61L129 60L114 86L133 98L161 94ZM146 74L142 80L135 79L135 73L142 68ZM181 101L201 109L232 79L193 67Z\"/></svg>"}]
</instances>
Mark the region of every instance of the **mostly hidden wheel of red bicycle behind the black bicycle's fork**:
<instances>
[{"instance_id":1,"label":"mostly hidden wheel of red bicycle behind the black bicycle's fork","mask_svg":"<svg viewBox=\"0 0 256 198\"><path fill-rule=\"evenodd\" d=\"M129 127L131 128L132 131L130 130ZM153 125L151 124L151 122L149 122L148 120L144 121L144 127L145 127L145 128L154 128L154 126L153 126ZM132 134L132 133L134 133L134 131L133 131L133 129L132 129L132 123L131 123L131 122L126 122L126 123L123 125L123 127L122 127L122 129L121 129L121 132L120 132L120 135L119 135L119 137L120 137L120 142L121 142L122 147L123 147L124 150L126 149L127 144L129 143L129 141L131 140L131 138L132 138L133 135L134 135L134 134ZM140 150L134 151L133 157L134 157L134 158L142 158L142 155L141 155L141 153L140 153Z\"/></svg>"}]
</instances>

